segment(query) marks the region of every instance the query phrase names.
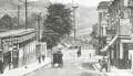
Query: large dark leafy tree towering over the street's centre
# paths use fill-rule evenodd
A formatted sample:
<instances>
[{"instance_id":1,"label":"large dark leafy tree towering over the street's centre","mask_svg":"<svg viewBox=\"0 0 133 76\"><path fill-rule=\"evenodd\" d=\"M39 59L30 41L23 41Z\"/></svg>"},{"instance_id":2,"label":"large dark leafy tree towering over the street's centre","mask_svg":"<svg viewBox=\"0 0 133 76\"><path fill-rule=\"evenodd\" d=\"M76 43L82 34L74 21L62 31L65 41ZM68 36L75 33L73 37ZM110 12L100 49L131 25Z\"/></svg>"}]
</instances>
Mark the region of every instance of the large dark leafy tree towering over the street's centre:
<instances>
[{"instance_id":1,"label":"large dark leafy tree towering over the street's centre","mask_svg":"<svg viewBox=\"0 0 133 76\"><path fill-rule=\"evenodd\" d=\"M43 28L47 33L43 32L42 41L48 43L49 48L52 48L72 31L71 10L61 3L50 4Z\"/></svg>"}]
</instances>

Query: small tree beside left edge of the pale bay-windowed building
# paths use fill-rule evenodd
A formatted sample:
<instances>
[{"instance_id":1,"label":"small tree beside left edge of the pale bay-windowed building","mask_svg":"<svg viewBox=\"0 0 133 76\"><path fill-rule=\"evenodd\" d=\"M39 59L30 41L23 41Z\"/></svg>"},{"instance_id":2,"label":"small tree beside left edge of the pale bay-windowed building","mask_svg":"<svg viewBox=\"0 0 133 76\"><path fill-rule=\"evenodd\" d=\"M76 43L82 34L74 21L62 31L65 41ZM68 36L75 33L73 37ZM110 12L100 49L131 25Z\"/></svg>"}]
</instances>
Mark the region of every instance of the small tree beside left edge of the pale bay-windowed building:
<instances>
[{"instance_id":1,"label":"small tree beside left edge of the pale bay-windowed building","mask_svg":"<svg viewBox=\"0 0 133 76\"><path fill-rule=\"evenodd\" d=\"M98 24L94 24L92 26L92 32L90 36L91 36L90 44L93 45L94 48L98 48L99 47Z\"/></svg>"}]
</instances>

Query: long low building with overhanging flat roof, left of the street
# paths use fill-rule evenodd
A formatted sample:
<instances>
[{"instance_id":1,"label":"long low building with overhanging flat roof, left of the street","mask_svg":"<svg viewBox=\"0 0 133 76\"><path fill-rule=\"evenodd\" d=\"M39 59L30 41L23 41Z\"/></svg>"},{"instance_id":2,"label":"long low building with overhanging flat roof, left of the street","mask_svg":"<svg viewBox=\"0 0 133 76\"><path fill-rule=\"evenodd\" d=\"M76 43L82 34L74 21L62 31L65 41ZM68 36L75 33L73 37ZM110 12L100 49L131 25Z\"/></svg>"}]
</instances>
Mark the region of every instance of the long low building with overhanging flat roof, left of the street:
<instances>
[{"instance_id":1,"label":"long low building with overhanging flat roof, left of the street","mask_svg":"<svg viewBox=\"0 0 133 76\"><path fill-rule=\"evenodd\" d=\"M37 59L37 31L13 30L0 33L0 57L4 69L21 67ZM11 67L12 66L12 67Z\"/></svg>"}]
</instances>

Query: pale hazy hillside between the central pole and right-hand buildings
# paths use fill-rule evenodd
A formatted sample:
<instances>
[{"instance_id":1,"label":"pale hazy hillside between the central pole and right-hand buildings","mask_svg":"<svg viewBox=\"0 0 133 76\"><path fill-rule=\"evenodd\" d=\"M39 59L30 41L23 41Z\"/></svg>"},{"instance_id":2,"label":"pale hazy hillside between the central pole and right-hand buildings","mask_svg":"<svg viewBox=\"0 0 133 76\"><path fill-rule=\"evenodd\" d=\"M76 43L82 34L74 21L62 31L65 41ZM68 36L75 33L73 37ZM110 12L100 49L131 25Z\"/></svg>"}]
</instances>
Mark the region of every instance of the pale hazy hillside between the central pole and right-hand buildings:
<instances>
[{"instance_id":1,"label":"pale hazy hillside between the central pole and right-hand buildings","mask_svg":"<svg viewBox=\"0 0 133 76\"><path fill-rule=\"evenodd\" d=\"M76 10L76 35L90 37L92 25L98 23L96 7L79 6Z\"/></svg>"}]
</instances>

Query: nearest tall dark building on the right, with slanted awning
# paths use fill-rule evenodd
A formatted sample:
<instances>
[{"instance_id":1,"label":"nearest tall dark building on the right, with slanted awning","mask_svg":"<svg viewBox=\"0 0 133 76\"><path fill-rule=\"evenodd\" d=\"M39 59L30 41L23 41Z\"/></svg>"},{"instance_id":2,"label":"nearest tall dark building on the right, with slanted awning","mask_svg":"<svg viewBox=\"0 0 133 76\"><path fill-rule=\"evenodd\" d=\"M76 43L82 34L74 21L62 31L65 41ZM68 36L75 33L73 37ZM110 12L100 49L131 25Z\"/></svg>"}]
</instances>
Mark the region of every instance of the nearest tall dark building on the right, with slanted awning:
<instances>
[{"instance_id":1,"label":"nearest tall dark building on the right, with slanted awning","mask_svg":"<svg viewBox=\"0 0 133 76\"><path fill-rule=\"evenodd\" d=\"M132 0L110 1L106 13L106 45L101 52L110 57L111 65L131 68L132 63Z\"/></svg>"}]
</instances>

